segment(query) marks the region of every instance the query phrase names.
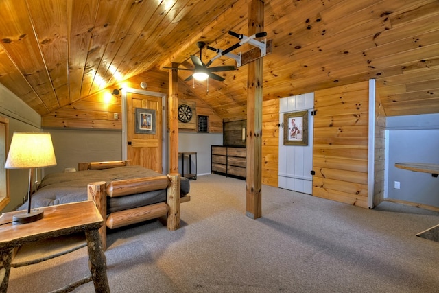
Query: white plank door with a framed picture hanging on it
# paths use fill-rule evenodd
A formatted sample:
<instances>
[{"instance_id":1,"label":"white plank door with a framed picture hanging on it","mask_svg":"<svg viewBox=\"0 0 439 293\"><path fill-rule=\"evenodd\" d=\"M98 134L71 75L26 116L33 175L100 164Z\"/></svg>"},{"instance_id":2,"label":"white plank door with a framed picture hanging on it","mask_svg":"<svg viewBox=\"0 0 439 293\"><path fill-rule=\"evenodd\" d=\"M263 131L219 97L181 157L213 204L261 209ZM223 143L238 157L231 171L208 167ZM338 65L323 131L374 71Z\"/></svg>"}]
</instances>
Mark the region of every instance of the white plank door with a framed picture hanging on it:
<instances>
[{"instance_id":1,"label":"white plank door with a framed picture hanging on it","mask_svg":"<svg viewBox=\"0 0 439 293\"><path fill-rule=\"evenodd\" d=\"M278 186L304 194L312 194L313 107L314 93L294 95L280 100ZM288 127L283 125L283 115L304 110L308 111L308 145L284 145L283 131Z\"/></svg>"}]
</instances>

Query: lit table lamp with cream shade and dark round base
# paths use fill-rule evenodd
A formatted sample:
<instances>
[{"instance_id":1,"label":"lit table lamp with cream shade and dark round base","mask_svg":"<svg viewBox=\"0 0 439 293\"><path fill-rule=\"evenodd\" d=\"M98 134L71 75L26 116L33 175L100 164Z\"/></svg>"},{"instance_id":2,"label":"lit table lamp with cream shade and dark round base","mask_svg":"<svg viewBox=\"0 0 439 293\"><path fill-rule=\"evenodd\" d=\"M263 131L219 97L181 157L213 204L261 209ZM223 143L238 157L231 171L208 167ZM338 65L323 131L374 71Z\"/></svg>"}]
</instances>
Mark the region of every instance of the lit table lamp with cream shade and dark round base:
<instances>
[{"instance_id":1,"label":"lit table lamp with cream shade and dark round base","mask_svg":"<svg viewBox=\"0 0 439 293\"><path fill-rule=\"evenodd\" d=\"M17 213L14 222L21 224L34 222L43 218L43 211L31 211L32 168L56 165L54 145L50 133L14 132L9 148L6 169L29 169L29 190L27 192L27 213Z\"/></svg>"}]
</instances>

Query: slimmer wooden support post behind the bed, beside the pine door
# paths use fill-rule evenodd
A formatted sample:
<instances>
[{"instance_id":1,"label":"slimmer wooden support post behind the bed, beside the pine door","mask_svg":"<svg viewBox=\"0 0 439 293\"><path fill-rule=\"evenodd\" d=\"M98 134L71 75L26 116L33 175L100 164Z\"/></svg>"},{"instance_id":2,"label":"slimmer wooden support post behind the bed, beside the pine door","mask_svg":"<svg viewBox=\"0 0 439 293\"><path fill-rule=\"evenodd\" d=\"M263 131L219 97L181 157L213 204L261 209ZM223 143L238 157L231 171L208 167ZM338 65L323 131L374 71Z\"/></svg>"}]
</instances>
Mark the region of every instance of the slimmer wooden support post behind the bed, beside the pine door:
<instances>
[{"instance_id":1,"label":"slimmer wooden support post behind the bed, beside the pine door","mask_svg":"<svg viewBox=\"0 0 439 293\"><path fill-rule=\"evenodd\" d=\"M172 63L172 67L178 64ZM178 173L178 75L177 69L169 70L169 173Z\"/></svg>"}]
</instances>

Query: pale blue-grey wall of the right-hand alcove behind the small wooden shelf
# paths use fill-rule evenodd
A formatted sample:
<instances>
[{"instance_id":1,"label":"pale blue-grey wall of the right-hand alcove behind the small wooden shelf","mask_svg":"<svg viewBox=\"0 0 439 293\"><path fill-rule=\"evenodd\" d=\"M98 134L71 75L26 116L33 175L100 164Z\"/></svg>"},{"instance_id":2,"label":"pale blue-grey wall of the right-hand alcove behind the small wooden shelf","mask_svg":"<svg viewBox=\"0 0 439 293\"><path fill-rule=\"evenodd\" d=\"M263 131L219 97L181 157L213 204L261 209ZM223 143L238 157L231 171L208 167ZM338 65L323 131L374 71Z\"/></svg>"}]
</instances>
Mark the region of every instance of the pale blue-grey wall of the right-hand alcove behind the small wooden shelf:
<instances>
[{"instance_id":1,"label":"pale blue-grey wall of the right-hand alcove behind the small wooden shelf","mask_svg":"<svg viewBox=\"0 0 439 293\"><path fill-rule=\"evenodd\" d=\"M399 169L395 163L439 164L439 115L388 117L387 198L439 207L439 178ZM401 189L394 189L394 181Z\"/></svg>"}]
</instances>

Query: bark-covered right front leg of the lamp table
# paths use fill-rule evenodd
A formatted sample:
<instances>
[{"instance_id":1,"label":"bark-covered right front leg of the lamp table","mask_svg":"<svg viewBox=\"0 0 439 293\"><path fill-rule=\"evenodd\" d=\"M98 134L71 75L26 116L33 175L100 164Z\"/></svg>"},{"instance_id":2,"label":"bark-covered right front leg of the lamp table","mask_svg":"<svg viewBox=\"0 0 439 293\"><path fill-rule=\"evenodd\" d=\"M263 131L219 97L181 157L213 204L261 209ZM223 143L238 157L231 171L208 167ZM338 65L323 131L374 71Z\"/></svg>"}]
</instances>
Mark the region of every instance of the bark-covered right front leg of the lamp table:
<instances>
[{"instance_id":1,"label":"bark-covered right front leg of the lamp table","mask_svg":"<svg viewBox=\"0 0 439 293\"><path fill-rule=\"evenodd\" d=\"M88 247L88 263L90 265L91 279L95 285L95 292L110 292L107 279L107 264L101 237L97 230L85 232Z\"/></svg>"}]
</instances>

